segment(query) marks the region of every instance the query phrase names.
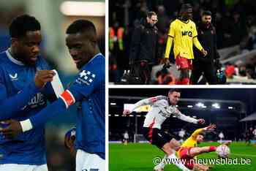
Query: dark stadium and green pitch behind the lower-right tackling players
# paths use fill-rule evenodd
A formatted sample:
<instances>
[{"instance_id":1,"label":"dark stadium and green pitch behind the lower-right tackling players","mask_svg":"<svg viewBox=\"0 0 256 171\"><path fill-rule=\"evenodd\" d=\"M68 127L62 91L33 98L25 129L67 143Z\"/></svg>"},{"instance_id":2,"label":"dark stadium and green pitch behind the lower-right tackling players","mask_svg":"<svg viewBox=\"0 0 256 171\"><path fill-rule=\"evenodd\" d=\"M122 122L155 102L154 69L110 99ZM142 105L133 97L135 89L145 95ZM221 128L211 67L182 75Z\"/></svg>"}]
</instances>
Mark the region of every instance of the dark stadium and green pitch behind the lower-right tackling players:
<instances>
[{"instance_id":1,"label":"dark stadium and green pitch behind the lower-right tackling players","mask_svg":"<svg viewBox=\"0 0 256 171\"><path fill-rule=\"evenodd\" d=\"M215 165L212 170L255 170L256 159L256 89L252 88L180 88L181 100L178 109L193 118L204 118L207 126L215 123L217 129L205 134L203 145L218 145L218 142L232 140L230 158L250 159L249 165ZM153 159L163 157L164 153L156 146L149 145L143 138L142 127L149 106L140 107L136 112L124 116L124 106L134 104L140 99L152 96L166 96L169 89L160 88L110 88L109 89L109 155L110 170L153 170ZM165 132L176 135L185 130L183 140L197 128L203 126L181 121L175 117L167 118L162 124ZM253 134L253 131L255 134ZM128 132L128 145L124 142L124 133ZM219 133L224 139L219 140ZM250 144L248 140L251 140ZM200 155L199 159L217 158L216 153ZM125 159L125 160L117 160ZM178 170L167 166L166 170Z\"/></svg>"}]
</instances>

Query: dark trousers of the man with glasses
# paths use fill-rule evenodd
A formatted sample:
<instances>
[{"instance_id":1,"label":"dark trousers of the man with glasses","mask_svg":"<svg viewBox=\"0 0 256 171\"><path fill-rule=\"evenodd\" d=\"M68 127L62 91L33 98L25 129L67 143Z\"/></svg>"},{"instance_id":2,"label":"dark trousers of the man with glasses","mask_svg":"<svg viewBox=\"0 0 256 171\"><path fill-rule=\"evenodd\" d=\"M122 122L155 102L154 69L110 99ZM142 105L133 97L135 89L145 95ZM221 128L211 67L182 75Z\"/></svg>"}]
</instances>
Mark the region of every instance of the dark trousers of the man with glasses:
<instances>
[{"instance_id":1,"label":"dark trousers of the man with glasses","mask_svg":"<svg viewBox=\"0 0 256 171\"><path fill-rule=\"evenodd\" d=\"M143 84L149 84L151 82L152 66L152 64L148 64L146 61L135 62L135 75L141 78Z\"/></svg>"}]
</instances>

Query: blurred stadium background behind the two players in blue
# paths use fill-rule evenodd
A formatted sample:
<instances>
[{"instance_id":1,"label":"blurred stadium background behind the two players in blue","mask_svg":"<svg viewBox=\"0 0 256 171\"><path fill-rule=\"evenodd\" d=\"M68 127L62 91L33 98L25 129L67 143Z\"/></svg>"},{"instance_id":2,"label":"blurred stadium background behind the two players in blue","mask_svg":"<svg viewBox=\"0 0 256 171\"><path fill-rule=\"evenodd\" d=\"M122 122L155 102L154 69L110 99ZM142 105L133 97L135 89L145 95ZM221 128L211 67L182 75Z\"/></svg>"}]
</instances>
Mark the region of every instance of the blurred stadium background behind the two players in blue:
<instances>
[{"instance_id":1,"label":"blurred stadium background behind the two players in blue","mask_svg":"<svg viewBox=\"0 0 256 171\"><path fill-rule=\"evenodd\" d=\"M10 46L8 26L12 18L21 14L33 15L42 27L42 56L55 68L64 87L77 73L75 64L65 47L65 31L73 20L91 20L97 27L101 52L105 54L105 0L0 0L0 50ZM64 134L75 126L75 107L46 126L49 171L75 170L75 161L64 149Z\"/></svg>"}]
</instances>

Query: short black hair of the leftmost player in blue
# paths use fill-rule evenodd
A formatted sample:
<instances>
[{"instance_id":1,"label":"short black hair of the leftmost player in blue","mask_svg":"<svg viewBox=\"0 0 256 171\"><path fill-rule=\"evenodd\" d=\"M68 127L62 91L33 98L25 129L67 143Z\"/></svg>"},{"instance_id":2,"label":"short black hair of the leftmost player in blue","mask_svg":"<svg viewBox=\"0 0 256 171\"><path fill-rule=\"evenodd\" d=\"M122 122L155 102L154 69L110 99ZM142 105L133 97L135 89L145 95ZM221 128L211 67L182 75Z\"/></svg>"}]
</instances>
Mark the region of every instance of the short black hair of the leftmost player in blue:
<instances>
[{"instance_id":1,"label":"short black hair of the leftmost player in blue","mask_svg":"<svg viewBox=\"0 0 256 171\"><path fill-rule=\"evenodd\" d=\"M27 31L39 31L39 21L30 15L20 15L14 18L9 26L10 37L21 38L26 36Z\"/></svg>"}]
</instances>

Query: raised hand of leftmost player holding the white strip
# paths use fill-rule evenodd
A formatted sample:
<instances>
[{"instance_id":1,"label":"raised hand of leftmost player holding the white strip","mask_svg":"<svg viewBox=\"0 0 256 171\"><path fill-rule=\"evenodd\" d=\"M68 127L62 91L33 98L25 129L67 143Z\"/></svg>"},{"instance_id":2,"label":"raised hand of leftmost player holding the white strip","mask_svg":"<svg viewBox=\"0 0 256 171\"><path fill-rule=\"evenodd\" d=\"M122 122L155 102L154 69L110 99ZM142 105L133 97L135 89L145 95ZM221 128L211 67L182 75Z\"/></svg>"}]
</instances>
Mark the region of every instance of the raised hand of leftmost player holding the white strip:
<instances>
[{"instance_id":1,"label":"raised hand of leftmost player holding the white strip","mask_svg":"<svg viewBox=\"0 0 256 171\"><path fill-rule=\"evenodd\" d=\"M53 80L54 75L56 75L55 72L51 70L39 70L34 77L34 83L37 88L43 88L46 83Z\"/></svg>"}]
</instances>

